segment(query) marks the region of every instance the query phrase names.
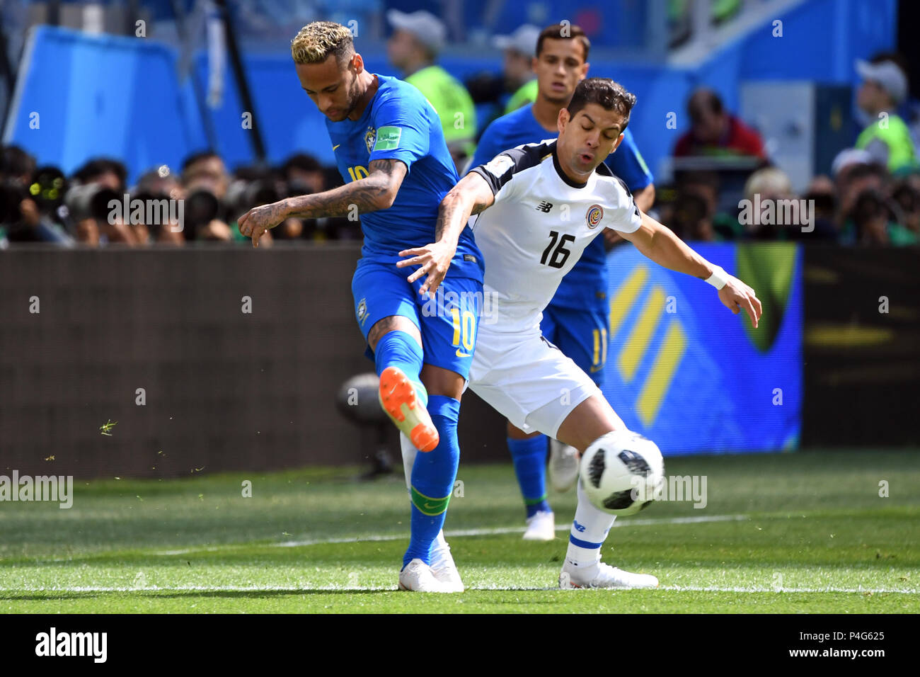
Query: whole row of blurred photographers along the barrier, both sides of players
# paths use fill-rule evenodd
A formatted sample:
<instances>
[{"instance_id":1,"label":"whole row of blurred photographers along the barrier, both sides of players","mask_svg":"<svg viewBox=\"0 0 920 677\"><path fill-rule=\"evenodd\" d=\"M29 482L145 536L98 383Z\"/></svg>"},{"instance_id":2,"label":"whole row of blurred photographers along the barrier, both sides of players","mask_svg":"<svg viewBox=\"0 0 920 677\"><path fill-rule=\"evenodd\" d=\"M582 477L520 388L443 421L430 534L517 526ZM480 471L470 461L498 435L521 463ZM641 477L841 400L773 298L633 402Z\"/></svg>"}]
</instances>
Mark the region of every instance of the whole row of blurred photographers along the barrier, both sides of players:
<instances>
[{"instance_id":1,"label":"whole row of blurred photographers along the barrier, both sides of players","mask_svg":"<svg viewBox=\"0 0 920 677\"><path fill-rule=\"evenodd\" d=\"M733 204L725 208L723 175L715 170L678 172L672 185L659 188L651 212L689 241L920 242L920 170L891 172L867 150L847 149L834 160L831 176L815 177L805 193L796 194L781 169L766 159L763 165L743 186L743 198L760 210L759 217L749 213L745 218ZM201 152L186 158L181 168L150 169L133 186L126 185L126 175L121 162L96 158L65 176L55 167L37 167L21 148L5 146L0 157L0 247L19 242L89 247L248 243L236 219L251 207L342 183L338 169L304 154L293 155L280 167L229 172L219 156ZM135 210L137 201L144 205L140 210ZM181 204L181 212L176 206L170 211L168 201ZM786 210L784 221L781 205L789 201L791 217ZM151 211L149 204L163 208ZM767 209L775 210L772 216ZM358 220L291 218L266 233L260 245L361 237Z\"/></svg>"}]
</instances>

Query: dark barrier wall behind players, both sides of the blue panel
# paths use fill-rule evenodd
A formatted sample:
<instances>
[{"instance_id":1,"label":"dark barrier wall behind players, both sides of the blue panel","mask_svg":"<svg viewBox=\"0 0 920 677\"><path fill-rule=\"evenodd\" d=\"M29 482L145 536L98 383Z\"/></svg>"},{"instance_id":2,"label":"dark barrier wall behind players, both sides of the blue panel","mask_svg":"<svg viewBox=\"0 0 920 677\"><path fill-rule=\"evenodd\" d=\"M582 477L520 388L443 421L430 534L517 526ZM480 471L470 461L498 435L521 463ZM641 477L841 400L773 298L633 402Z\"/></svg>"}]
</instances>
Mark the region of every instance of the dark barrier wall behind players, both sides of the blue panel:
<instances>
[{"instance_id":1,"label":"dark barrier wall behind players, both sides of the blue panel","mask_svg":"<svg viewBox=\"0 0 920 677\"><path fill-rule=\"evenodd\" d=\"M358 255L0 252L0 474L365 462L374 435L335 403L345 379L373 370L351 309ZM918 263L915 249L806 249L802 446L920 440ZM469 391L460 440L465 462L508 459L503 420ZM388 441L398 458L395 431Z\"/></svg>"}]
</instances>

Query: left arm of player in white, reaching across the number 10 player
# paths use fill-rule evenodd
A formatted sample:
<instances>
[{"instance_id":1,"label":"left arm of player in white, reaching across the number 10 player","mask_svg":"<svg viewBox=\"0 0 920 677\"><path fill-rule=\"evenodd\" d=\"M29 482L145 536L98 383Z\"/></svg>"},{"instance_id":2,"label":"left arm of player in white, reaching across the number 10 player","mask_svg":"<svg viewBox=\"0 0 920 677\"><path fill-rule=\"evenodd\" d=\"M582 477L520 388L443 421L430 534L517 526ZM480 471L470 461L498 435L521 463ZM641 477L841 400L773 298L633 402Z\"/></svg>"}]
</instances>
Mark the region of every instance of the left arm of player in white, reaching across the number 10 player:
<instances>
[{"instance_id":1,"label":"left arm of player in white, reaching across the number 10 player","mask_svg":"<svg viewBox=\"0 0 920 677\"><path fill-rule=\"evenodd\" d=\"M424 247L399 252L400 256L408 258L397 262L397 268L407 265L421 266L408 276L410 283L418 280L423 274L428 275L419 289L420 294L424 295L427 292L434 298L434 292L443 282L454 258L457 240L466 228L466 221L471 215L478 214L494 202L495 195L492 194L489 183L476 172L466 174L444 195L444 199L438 205L438 223L434 229L436 241Z\"/></svg>"}]
</instances>

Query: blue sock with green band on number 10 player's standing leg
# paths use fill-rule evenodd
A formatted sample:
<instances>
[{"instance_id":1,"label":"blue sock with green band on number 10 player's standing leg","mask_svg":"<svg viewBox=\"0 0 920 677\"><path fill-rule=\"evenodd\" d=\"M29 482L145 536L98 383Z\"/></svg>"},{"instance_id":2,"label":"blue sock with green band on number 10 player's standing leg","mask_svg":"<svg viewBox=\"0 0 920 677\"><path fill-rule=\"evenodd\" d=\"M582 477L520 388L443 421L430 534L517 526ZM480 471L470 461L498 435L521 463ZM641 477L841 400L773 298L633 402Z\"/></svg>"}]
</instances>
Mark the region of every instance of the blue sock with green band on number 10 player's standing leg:
<instances>
[{"instance_id":1,"label":"blue sock with green band on number 10 player's standing leg","mask_svg":"<svg viewBox=\"0 0 920 677\"><path fill-rule=\"evenodd\" d=\"M412 501L411 535L408 550L403 556L403 566L416 558L431 564L431 543L443 528L460 462L460 443L457 441L460 402L445 395L431 395L427 409L431 422L438 429L440 441L433 450L416 454L412 466L412 486L409 490Z\"/></svg>"}]
</instances>

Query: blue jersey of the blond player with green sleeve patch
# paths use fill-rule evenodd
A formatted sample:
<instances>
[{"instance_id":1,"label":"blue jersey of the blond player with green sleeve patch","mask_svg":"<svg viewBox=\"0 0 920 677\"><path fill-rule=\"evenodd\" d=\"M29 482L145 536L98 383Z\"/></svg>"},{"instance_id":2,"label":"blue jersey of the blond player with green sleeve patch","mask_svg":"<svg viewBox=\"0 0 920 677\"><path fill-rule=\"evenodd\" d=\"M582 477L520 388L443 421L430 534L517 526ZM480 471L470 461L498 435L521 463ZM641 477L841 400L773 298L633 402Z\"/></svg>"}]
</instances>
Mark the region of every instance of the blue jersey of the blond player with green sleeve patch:
<instances>
[{"instance_id":1,"label":"blue jersey of the blond player with green sleeve patch","mask_svg":"<svg viewBox=\"0 0 920 677\"><path fill-rule=\"evenodd\" d=\"M374 160L394 158L406 164L408 172L393 205L361 215L363 259L396 263L399 251L435 241L438 204L458 178L441 120L428 99L396 77L376 77L379 87L361 119L327 120L326 127L346 182L366 177ZM400 270L411 273L409 268ZM472 230L464 228L447 278L482 282L482 274L482 254Z\"/></svg>"}]
</instances>

